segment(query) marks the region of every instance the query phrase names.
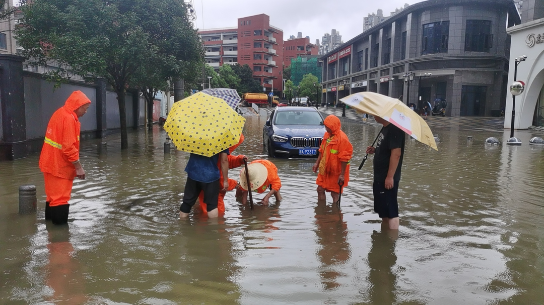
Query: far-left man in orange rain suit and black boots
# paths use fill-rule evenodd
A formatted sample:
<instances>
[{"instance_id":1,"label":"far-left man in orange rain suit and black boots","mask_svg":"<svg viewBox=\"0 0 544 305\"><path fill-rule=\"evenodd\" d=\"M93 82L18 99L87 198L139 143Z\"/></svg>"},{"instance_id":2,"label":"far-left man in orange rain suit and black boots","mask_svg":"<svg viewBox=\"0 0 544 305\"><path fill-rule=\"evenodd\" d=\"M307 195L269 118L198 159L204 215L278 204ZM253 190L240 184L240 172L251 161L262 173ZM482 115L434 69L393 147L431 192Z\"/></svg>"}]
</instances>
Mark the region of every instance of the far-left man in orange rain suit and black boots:
<instances>
[{"instance_id":1,"label":"far-left man in orange rain suit and black boots","mask_svg":"<svg viewBox=\"0 0 544 305\"><path fill-rule=\"evenodd\" d=\"M47 124L40 170L45 180L45 219L51 219L55 225L68 222L73 179L85 179L85 170L79 162L81 123L78 118L90 105L91 101L83 92L74 91Z\"/></svg>"}]
</instances>

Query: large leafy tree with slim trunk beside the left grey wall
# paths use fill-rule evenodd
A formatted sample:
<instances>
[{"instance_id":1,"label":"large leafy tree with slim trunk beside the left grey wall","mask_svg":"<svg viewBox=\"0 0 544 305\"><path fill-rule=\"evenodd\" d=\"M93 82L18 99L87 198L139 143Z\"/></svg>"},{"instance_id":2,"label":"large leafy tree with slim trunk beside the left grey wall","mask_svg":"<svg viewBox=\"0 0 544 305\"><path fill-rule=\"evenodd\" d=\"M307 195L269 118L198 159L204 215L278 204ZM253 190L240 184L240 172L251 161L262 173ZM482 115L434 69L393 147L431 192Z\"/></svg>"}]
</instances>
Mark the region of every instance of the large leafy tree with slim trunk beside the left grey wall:
<instances>
[{"instance_id":1,"label":"large leafy tree with slim trunk beside the left grey wall","mask_svg":"<svg viewBox=\"0 0 544 305\"><path fill-rule=\"evenodd\" d=\"M121 149L128 148L125 95L139 70L153 59L183 77L187 62L203 56L183 0L23 0L16 39L35 65L54 62L50 79L72 74L106 79L117 94ZM144 66L144 68L142 68Z\"/></svg>"}]
</instances>

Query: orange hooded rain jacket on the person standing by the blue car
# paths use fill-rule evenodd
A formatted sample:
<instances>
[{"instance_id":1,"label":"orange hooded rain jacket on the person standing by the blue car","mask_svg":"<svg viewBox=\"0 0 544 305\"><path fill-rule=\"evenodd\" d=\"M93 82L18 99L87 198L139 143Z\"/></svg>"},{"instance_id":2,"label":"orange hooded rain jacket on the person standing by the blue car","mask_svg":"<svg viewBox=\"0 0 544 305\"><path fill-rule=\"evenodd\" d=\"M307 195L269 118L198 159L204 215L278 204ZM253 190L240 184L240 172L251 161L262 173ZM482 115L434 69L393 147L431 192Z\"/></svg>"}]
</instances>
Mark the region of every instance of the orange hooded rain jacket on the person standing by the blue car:
<instances>
[{"instance_id":1,"label":"orange hooded rain jacket on the person standing by the blue car","mask_svg":"<svg viewBox=\"0 0 544 305\"><path fill-rule=\"evenodd\" d=\"M339 193L338 177L342 171L340 162L348 162L344 173L344 185L342 186L346 187L349 182L349 163L353 155L353 146L349 142L348 136L340 130L342 124L338 117L328 116L325 118L324 124L331 129L334 136L331 137L329 132L325 132L323 136L319 153L322 154L322 158L325 158L325 167L322 172L322 166L319 166L316 183L329 192Z\"/></svg>"}]
</instances>

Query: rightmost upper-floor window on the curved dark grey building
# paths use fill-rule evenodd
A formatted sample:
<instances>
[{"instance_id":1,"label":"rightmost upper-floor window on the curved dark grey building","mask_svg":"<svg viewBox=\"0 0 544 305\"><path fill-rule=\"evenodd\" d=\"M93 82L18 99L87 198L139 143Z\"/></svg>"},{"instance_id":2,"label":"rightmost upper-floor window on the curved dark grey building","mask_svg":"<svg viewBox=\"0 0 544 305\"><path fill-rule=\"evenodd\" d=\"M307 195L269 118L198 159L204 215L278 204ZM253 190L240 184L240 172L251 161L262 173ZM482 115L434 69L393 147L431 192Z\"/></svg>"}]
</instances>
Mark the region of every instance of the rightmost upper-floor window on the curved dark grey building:
<instances>
[{"instance_id":1,"label":"rightmost upper-floor window on the curved dark grey building","mask_svg":"<svg viewBox=\"0 0 544 305\"><path fill-rule=\"evenodd\" d=\"M491 21L467 20L465 52L489 52L493 47Z\"/></svg>"}]
</instances>

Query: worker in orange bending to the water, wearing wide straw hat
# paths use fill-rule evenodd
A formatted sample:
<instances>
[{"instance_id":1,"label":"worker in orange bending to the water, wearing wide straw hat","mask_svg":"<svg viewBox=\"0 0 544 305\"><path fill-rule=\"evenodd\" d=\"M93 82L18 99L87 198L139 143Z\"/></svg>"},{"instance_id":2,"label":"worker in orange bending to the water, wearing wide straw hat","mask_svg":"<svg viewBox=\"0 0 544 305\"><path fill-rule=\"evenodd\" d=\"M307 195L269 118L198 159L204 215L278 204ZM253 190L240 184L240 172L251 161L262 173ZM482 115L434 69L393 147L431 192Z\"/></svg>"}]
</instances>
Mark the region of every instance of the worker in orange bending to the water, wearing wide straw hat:
<instances>
[{"instance_id":1,"label":"worker in orange bending to the water, wearing wide straw hat","mask_svg":"<svg viewBox=\"0 0 544 305\"><path fill-rule=\"evenodd\" d=\"M263 205L268 205L272 195L276 197L276 201L281 200L281 180L277 175L277 168L274 163L268 160L255 160L248 164L248 173L251 190L262 194L267 190L268 186L271 187L270 192L262 200ZM242 204L248 202L248 179L245 175L245 168L240 170L240 181L236 188L241 191L240 193L237 192L237 198L242 197Z\"/></svg>"}]
</instances>

